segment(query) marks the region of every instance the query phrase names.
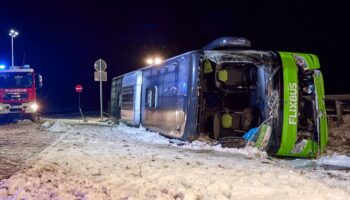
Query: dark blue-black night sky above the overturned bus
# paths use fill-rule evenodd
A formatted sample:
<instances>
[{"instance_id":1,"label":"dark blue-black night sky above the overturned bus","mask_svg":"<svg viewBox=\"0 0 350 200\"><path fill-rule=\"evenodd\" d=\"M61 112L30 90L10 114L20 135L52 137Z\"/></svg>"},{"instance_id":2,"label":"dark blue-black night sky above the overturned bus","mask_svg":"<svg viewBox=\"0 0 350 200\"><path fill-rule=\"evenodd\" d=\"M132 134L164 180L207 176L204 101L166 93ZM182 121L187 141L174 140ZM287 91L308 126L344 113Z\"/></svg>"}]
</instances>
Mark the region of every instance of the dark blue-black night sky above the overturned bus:
<instances>
[{"instance_id":1,"label":"dark blue-black night sky above the overturned bus","mask_svg":"<svg viewBox=\"0 0 350 200\"><path fill-rule=\"evenodd\" d=\"M46 110L99 107L93 63L103 58L112 77L144 66L148 55L169 58L222 36L249 39L257 50L315 53L326 93L350 93L350 17L338 1L1 1L0 63L11 64L8 31L15 28L15 65L43 75Z\"/></svg>"}]
</instances>

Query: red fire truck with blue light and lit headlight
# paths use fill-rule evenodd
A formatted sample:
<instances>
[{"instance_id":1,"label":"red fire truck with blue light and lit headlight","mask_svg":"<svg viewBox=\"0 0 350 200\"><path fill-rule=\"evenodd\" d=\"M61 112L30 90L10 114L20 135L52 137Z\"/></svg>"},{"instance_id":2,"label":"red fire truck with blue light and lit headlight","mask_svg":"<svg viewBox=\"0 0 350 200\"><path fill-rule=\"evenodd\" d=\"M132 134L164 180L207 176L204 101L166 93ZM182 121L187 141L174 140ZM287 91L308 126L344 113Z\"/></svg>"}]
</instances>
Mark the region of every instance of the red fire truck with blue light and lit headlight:
<instances>
[{"instance_id":1,"label":"red fire truck with blue light and lit headlight","mask_svg":"<svg viewBox=\"0 0 350 200\"><path fill-rule=\"evenodd\" d=\"M42 76L29 65L0 67L0 121L29 118L37 121L39 104L37 90Z\"/></svg>"}]
</instances>

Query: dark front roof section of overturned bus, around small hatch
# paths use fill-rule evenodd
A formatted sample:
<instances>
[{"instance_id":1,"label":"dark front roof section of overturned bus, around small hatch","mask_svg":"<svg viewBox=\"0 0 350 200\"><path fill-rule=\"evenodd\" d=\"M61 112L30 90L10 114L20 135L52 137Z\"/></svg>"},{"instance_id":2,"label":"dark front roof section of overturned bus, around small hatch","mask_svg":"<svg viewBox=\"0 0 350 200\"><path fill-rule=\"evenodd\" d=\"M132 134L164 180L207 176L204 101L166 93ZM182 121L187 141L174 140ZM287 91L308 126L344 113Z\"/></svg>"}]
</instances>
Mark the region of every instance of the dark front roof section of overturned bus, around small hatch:
<instances>
[{"instance_id":1,"label":"dark front roof section of overturned bus, around small hatch","mask_svg":"<svg viewBox=\"0 0 350 200\"><path fill-rule=\"evenodd\" d=\"M143 70L142 125L161 134L183 138L187 118L190 57L183 55ZM157 106L148 107L147 92L156 88Z\"/></svg>"}]
</instances>

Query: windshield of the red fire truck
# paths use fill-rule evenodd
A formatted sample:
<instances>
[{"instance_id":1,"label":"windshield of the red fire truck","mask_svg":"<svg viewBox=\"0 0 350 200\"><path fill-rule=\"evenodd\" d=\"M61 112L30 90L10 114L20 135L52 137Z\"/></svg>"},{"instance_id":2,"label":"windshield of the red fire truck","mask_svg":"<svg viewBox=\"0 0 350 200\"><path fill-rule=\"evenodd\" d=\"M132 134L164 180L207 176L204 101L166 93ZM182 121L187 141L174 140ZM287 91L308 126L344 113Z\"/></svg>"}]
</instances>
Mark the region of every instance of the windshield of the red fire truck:
<instances>
[{"instance_id":1,"label":"windshield of the red fire truck","mask_svg":"<svg viewBox=\"0 0 350 200\"><path fill-rule=\"evenodd\" d=\"M32 73L0 73L0 88L31 88Z\"/></svg>"}]
</instances>

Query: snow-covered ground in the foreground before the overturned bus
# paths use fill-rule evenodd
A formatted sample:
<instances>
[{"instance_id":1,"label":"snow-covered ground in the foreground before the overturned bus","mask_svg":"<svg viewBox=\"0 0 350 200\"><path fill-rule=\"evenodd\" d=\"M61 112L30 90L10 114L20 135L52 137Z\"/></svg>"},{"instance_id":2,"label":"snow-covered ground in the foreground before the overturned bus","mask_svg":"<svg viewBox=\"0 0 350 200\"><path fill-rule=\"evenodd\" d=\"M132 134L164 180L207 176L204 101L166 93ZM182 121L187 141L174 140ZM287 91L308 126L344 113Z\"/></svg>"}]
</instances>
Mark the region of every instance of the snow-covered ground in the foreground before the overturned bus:
<instances>
[{"instance_id":1,"label":"snow-covered ground in the foreground before the overturned bus","mask_svg":"<svg viewBox=\"0 0 350 200\"><path fill-rule=\"evenodd\" d=\"M60 139L0 182L0 199L349 199L348 171L294 168L248 147L165 138L110 122L48 120ZM314 163L316 163L314 165ZM333 163L334 164L334 163ZM329 175L329 173L336 175ZM339 175L339 176L338 176Z\"/></svg>"}]
</instances>

